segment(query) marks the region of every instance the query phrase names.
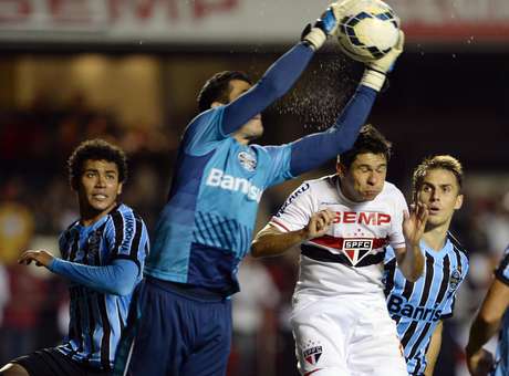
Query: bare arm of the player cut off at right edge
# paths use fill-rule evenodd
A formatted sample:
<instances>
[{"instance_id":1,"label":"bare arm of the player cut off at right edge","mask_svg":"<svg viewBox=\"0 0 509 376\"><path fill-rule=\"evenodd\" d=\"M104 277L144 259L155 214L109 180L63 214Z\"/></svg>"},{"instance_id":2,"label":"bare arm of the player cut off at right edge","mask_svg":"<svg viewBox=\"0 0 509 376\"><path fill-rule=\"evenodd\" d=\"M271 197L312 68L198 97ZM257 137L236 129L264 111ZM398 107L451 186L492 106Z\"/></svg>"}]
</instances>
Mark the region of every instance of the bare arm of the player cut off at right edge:
<instances>
[{"instance_id":1,"label":"bare arm of the player cut off at right edge","mask_svg":"<svg viewBox=\"0 0 509 376\"><path fill-rule=\"evenodd\" d=\"M471 375L487 375L491 368L494 356L482 346L497 333L508 306L509 286L496 279L470 328L466 353Z\"/></svg>"}]
</instances>

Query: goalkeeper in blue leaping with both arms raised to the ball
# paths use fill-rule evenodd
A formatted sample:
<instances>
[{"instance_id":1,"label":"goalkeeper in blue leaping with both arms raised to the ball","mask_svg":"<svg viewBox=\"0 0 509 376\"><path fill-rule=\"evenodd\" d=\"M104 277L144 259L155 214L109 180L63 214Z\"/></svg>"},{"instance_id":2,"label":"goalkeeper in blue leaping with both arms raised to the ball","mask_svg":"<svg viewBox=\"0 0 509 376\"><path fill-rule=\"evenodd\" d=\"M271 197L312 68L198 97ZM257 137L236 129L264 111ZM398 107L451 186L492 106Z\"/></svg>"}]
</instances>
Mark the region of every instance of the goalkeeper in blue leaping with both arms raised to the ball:
<instances>
[{"instance_id":1,"label":"goalkeeper in blue leaping with both arms raised to the ball","mask_svg":"<svg viewBox=\"0 0 509 376\"><path fill-rule=\"evenodd\" d=\"M181 138L115 374L226 374L228 297L239 291L236 273L250 248L263 190L349 149L402 52L403 38L383 60L366 66L354 96L326 132L280 146L250 145L263 132L260 113L290 90L314 52L335 35L353 1L332 3L254 85L240 72L218 73L204 85L201 113Z\"/></svg>"}]
</instances>

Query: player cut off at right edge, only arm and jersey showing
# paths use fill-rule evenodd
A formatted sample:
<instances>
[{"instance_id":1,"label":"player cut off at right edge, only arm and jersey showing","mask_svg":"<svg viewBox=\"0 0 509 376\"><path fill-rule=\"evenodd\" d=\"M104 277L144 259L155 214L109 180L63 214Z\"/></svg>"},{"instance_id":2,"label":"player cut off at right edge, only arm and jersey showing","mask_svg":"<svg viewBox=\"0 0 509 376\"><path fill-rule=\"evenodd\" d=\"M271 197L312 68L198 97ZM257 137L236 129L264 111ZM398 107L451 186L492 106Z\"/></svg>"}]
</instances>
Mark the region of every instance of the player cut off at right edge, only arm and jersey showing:
<instances>
[{"instance_id":1,"label":"player cut off at right edge, only arm and jersey showing","mask_svg":"<svg viewBox=\"0 0 509 376\"><path fill-rule=\"evenodd\" d=\"M509 247L495 271L495 280L486 294L470 328L466 347L467 365L472 375L509 375ZM497 356L482 346L497 333Z\"/></svg>"}]
</instances>

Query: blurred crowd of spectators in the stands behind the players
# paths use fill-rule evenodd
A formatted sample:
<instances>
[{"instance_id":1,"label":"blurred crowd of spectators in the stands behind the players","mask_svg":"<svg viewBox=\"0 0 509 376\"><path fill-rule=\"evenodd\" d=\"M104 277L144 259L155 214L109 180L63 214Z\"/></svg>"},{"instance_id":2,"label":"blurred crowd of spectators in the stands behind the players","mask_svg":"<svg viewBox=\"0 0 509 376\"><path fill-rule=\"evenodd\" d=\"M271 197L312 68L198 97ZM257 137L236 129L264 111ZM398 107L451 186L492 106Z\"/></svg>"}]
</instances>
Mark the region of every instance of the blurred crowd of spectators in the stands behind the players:
<instances>
[{"instance_id":1,"label":"blurred crowd of spectators in the stands behind the players","mask_svg":"<svg viewBox=\"0 0 509 376\"><path fill-rule=\"evenodd\" d=\"M127 152L129 177L123 200L153 230L170 182L175 130L126 128L111 114L87 108L80 96L65 108L41 101L30 109L0 113L0 364L52 346L66 332L65 281L42 268L18 265L17 259L27 249L58 253L59 233L77 217L65 160L81 140L94 137ZM465 207L453 228L470 252L470 273L460 288L455 316L445 325L437 366L439 375L448 376L466 374L463 347L468 328L509 243L509 196L469 190L468 178L467 174ZM260 224L284 196L271 190L263 197ZM241 293L233 297L230 375L297 375L289 325L297 263L298 251L242 263Z\"/></svg>"}]
</instances>

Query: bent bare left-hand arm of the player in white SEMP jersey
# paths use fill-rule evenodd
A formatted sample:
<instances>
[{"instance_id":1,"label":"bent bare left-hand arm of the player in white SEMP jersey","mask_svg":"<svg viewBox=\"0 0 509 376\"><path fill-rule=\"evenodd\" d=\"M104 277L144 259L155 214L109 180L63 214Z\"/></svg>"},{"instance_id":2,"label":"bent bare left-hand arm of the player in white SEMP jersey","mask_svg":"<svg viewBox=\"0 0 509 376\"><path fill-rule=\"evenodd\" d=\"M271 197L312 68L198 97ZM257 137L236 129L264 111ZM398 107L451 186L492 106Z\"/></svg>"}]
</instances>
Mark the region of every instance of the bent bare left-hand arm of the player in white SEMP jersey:
<instances>
[{"instance_id":1,"label":"bent bare left-hand arm of the player in white SEMP jersey","mask_svg":"<svg viewBox=\"0 0 509 376\"><path fill-rule=\"evenodd\" d=\"M325 209L311 216L308 226L300 230L282 232L269 223L254 237L251 255L254 258L280 255L293 246L325 234L333 219L334 213Z\"/></svg>"}]
</instances>

